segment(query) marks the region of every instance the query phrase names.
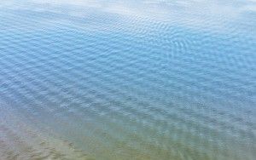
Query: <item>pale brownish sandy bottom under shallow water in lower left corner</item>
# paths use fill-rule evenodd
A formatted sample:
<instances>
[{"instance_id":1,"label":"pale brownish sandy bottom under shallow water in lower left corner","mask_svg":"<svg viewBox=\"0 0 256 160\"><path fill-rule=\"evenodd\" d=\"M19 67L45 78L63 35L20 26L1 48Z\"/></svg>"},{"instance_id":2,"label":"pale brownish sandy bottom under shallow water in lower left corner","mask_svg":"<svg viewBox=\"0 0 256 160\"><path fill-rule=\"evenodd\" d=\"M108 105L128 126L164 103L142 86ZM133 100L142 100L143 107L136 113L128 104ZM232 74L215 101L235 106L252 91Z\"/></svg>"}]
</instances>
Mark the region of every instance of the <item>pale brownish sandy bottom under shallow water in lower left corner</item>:
<instances>
[{"instance_id":1,"label":"pale brownish sandy bottom under shallow water in lower left corner","mask_svg":"<svg viewBox=\"0 0 256 160\"><path fill-rule=\"evenodd\" d=\"M93 159L66 140L32 129L19 113L3 104L0 114L1 159Z\"/></svg>"}]
</instances>

